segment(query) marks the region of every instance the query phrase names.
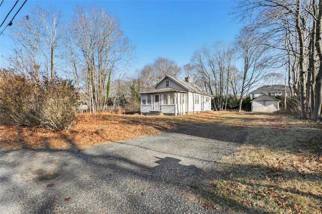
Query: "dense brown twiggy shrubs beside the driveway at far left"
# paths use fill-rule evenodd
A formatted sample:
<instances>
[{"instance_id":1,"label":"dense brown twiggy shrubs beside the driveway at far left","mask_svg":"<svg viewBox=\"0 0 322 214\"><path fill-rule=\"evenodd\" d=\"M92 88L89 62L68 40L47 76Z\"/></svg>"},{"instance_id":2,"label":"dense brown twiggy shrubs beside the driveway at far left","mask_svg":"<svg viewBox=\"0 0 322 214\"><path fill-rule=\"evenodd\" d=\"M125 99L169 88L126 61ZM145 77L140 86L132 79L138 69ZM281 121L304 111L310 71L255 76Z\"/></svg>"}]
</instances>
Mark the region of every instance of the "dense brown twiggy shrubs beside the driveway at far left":
<instances>
[{"instance_id":1,"label":"dense brown twiggy shrubs beside the driveway at far left","mask_svg":"<svg viewBox=\"0 0 322 214\"><path fill-rule=\"evenodd\" d=\"M76 122L77 94L58 77L33 83L25 76L0 72L0 123L69 130Z\"/></svg>"}]
</instances>

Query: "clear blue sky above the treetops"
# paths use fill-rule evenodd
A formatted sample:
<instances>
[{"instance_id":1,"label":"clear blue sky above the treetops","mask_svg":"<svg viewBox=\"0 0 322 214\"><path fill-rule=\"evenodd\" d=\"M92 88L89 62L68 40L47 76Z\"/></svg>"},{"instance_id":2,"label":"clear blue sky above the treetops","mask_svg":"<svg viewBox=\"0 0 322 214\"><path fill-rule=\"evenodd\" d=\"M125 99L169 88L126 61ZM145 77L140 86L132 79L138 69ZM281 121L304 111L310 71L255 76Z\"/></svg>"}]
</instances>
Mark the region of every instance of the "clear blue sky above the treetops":
<instances>
[{"instance_id":1,"label":"clear blue sky above the treetops","mask_svg":"<svg viewBox=\"0 0 322 214\"><path fill-rule=\"evenodd\" d=\"M0 0L1 3L2 0ZM24 0L20 0L6 23L18 11ZM0 8L0 24L16 3L5 0ZM164 57L183 66L190 62L193 52L205 44L231 42L241 26L232 22L228 15L233 1L32 1L28 0L15 18L13 25L30 14L36 5L52 6L64 13L65 19L73 15L76 5L104 7L120 21L121 29L136 46L136 60L130 72ZM6 55L11 51L10 27L0 36L0 67L6 66ZM4 56L4 57L3 57Z\"/></svg>"}]
</instances>

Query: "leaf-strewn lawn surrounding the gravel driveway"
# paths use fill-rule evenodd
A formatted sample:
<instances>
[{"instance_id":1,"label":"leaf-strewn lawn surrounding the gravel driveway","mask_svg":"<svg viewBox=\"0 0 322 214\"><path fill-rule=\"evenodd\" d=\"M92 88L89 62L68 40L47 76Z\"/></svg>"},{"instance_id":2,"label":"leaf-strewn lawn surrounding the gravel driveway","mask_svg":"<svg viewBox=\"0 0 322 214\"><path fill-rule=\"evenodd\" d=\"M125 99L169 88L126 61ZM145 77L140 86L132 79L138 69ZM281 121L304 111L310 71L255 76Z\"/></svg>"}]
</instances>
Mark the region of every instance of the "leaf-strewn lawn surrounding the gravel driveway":
<instances>
[{"instance_id":1,"label":"leaf-strewn lawn surrounding the gravel driveway","mask_svg":"<svg viewBox=\"0 0 322 214\"><path fill-rule=\"evenodd\" d=\"M86 149L211 124L244 130L247 142L220 160L213 179L196 186L206 209L247 213L322 213L322 124L283 114L212 112L180 117L80 114L69 132L0 126L0 147Z\"/></svg>"}]
</instances>

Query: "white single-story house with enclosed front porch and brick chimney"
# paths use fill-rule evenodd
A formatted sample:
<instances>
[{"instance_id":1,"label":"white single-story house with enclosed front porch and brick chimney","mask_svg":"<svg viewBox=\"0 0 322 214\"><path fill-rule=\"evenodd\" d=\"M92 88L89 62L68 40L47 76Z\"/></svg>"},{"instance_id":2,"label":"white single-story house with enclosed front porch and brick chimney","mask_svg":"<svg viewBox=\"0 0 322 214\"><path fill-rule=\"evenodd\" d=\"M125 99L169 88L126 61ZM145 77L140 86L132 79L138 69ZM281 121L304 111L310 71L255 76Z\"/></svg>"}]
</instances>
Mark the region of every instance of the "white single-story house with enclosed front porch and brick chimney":
<instances>
[{"instance_id":1,"label":"white single-story house with enclosed front porch and brick chimney","mask_svg":"<svg viewBox=\"0 0 322 214\"><path fill-rule=\"evenodd\" d=\"M212 95L186 80L165 75L150 91L140 92L141 114L189 115L211 111Z\"/></svg>"}]
</instances>

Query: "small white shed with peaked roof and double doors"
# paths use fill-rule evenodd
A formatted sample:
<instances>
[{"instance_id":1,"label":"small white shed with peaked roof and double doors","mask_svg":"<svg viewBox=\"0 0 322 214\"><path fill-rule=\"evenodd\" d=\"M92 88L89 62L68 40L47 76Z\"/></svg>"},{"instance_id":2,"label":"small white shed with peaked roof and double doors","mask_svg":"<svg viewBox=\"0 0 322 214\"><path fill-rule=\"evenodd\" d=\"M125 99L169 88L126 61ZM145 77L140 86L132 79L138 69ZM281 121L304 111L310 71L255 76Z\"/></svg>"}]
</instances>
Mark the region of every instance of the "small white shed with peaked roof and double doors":
<instances>
[{"instance_id":1,"label":"small white shed with peaked roof and double doors","mask_svg":"<svg viewBox=\"0 0 322 214\"><path fill-rule=\"evenodd\" d=\"M259 97L251 100L252 112L278 112L280 100L267 95L262 94Z\"/></svg>"}]
</instances>

